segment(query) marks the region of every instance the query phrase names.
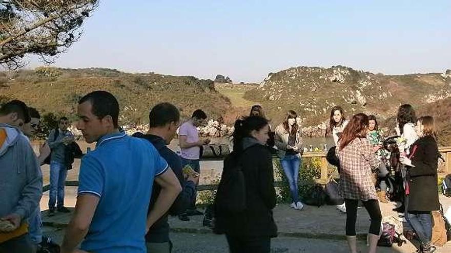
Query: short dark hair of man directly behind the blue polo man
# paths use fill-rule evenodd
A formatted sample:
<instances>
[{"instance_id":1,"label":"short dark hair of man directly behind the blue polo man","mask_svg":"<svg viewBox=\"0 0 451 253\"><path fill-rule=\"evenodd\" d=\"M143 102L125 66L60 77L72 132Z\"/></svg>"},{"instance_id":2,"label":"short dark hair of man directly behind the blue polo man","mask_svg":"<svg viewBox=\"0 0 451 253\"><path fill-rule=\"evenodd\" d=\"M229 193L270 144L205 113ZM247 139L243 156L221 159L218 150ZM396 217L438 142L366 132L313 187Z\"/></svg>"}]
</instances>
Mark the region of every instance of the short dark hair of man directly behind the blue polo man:
<instances>
[{"instance_id":1,"label":"short dark hair of man directly behind the blue polo man","mask_svg":"<svg viewBox=\"0 0 451 253\"><path fill-rule=\"evenodd\" d=\"M149 112L149 126L160 127L171 122L180 121L180 112L171 103L159 103Z\"/></svg>"}]
</instances>

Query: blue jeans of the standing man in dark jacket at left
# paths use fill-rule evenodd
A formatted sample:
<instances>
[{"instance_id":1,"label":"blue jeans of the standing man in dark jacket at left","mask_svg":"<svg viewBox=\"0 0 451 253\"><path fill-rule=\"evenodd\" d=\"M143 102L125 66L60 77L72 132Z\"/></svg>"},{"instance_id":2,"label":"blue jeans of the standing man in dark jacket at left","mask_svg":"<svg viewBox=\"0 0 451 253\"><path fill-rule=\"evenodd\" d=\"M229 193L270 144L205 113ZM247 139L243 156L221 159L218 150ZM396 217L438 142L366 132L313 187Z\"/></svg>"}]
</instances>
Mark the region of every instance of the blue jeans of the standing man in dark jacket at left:
<instances>
[{"instance_id":1,"label":"blue jeans of the standing man in dark jacket at left","mask_svg":"<svg viewBox=\"0 0 451 253\"><path fill-rule=\"evenodd\" d=\"M57 198L57 207L64 206L64 182L66 181L67 169L64 164L55 161L50 162L50 193L49 209L55 208Z\"/></svg>"}]
</instances>

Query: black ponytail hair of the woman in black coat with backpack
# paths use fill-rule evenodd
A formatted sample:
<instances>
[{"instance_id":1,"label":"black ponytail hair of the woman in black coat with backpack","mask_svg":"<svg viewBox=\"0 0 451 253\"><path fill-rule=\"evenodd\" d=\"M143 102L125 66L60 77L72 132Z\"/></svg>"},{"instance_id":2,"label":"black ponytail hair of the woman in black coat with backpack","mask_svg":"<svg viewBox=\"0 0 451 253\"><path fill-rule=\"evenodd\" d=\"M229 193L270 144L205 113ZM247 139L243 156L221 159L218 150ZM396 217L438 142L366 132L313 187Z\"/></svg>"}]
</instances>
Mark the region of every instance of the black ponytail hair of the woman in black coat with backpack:
<instances>
[{"instance_id":1,"label":"black ponytail hair of the woman in black coat with backpack","mask_svg":"<svg viewBox=\"0 0 451 253\"><path fill-rule=\"evenodd\" d=\"M237 153L243 151L242 140L251 137L253 130L259 131L268 126L268 120L259 116L249 116L235 121L233 131L233 150Z\"/></svg>"}]
</instances>

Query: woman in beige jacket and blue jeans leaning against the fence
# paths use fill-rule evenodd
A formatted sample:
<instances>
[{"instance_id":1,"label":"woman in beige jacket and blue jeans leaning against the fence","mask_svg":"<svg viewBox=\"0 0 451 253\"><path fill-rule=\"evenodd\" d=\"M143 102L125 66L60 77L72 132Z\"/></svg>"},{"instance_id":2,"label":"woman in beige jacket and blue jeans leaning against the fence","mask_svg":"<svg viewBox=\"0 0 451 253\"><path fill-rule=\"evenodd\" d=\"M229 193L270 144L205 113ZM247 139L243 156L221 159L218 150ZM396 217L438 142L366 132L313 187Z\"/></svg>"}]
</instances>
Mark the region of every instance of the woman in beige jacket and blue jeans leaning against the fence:
<instances>
[{"instance_id":1,"label":"woman in beige jacket and blue jeans leaning against the fence","mask_svg":"<svg viewBox=\"0 0 451 253\"><path fill-rule=\"evenodd\" d=\"M297 124L297 114L293 110L286 113L285 121L276 127L275 143L283 172L290 185L291 207L302 210L304 205L299 200L298 176L301 166L302 137Z\"/></svg>"}]
</instances>

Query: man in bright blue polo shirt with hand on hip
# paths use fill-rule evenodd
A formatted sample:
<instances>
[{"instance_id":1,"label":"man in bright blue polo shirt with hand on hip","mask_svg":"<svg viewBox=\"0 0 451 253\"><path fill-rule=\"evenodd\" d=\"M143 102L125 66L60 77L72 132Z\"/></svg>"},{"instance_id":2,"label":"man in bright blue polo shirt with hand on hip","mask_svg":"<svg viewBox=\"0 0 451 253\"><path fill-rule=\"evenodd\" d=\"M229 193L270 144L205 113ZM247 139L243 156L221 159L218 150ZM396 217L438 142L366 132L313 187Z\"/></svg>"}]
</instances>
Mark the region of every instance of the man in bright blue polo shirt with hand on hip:
<instances>
[{"instance_id":1,"label":"man in bright blue polo shirt with hand on hip","mask_svg":"<svg viewBox=\"0 0 451 253\"><path fill-rule=\"evenodd\" d=\"M78 102L77 114L94 151L81 160L77 203L61 253L145 253L149 227L165 214L181 191L166 161L146 140L118 130L119 104L107 91ZM153 181L161 192L147 214Z\"/></svg>"}]
</instances>

